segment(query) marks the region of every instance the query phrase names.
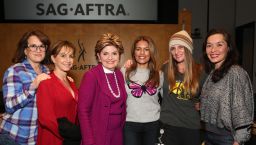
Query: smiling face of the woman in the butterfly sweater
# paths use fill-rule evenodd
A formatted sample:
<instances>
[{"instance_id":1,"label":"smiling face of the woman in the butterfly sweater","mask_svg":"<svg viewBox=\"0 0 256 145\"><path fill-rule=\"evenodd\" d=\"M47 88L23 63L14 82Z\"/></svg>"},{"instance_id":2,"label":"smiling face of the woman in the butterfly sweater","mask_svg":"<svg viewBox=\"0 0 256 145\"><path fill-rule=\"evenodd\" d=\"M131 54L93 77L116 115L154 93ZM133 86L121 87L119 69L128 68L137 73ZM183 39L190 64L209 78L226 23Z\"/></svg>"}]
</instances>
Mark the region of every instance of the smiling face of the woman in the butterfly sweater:
<instances>
[{"instance_id":1,"label":"smiling face of the woman in the butterfly sweater","mask_svg":"<svg viewBox=\"0 0 256 145\"><path fill-rule=\"evenodd\" d=\"M147 67L150 60L150 48L146 41L139 41L136 44L134 57L138 64L138 67Z\"/></svg>"}]
</instances>

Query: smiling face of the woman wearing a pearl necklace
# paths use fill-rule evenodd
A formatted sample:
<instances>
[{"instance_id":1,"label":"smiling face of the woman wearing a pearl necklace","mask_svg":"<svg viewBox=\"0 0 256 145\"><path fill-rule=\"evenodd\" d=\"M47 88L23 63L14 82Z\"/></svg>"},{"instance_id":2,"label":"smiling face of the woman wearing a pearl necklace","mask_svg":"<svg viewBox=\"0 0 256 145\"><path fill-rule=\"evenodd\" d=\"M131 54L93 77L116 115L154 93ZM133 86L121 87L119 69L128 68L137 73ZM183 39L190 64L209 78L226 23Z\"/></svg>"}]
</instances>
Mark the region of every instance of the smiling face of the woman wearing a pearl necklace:
<instances>
[{"instance_id":1,"label":"smiling face of the woman wearing a pearl necklace","mask_svg":"<svg viewBox=\"0 0 256 145\"><path fill-rule=\"evenodd\" d=\"M109 70L114 70L120 60L120 54L115 46L106 46L100 53L97 53L99 62Z\"/></svg>"}]
</instances>

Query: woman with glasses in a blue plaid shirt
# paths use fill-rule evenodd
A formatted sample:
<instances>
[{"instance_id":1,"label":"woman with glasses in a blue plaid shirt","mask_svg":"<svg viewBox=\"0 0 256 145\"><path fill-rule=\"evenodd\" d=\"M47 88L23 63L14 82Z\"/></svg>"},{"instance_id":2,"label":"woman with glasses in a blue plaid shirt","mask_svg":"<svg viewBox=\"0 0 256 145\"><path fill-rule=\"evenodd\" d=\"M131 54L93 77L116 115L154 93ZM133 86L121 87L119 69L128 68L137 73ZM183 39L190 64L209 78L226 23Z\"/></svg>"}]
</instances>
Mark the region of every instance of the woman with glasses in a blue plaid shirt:
<instances>
[{"instance_id":1,"label":"woman with glasses in a blue plaid shirt","mask_svg":"<svg viewBox=\"0 0 256 145\"><path fill-rule=\"evenodd\" d=\"M13 62L3 78L5 113L0 125L0 144L35 145L37 108L35 92L50 78L43 65L49 38L40 31L26 32L20 39Z\"/></svg>"}]
</instances>

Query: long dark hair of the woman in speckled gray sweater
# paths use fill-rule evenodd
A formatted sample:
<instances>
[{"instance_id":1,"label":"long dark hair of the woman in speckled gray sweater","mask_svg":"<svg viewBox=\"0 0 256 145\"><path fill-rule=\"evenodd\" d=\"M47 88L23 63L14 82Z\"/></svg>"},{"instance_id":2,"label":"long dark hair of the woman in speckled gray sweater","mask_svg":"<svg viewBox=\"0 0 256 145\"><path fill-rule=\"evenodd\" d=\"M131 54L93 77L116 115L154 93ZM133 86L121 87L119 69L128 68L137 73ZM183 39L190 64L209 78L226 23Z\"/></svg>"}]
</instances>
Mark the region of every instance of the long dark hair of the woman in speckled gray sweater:
<instances>
[{"instance_id":1,"label":"long dark hair of the woman in speckled gray sweater","mask_svg":"<svg viewBox=\"0 0 256 145\"><path fill-rule=\"evenodd\" d=\"M238 53L237 50L235 49L234 43L232 42L231 35L227 31L223 29L210 30L203 43L203 58L205 65L204 67L207 73L210 73L214 69L214 64L209 60L206 54L207 40L210 36L215 34L221 34L224 37L224 41L226 41L228 47L226 59L218 69L215 69L213 71L212 81L216 83L225 76L225 74L228 72L229 68L232 65L238 64Z\"/></svg>"}]
</instances>

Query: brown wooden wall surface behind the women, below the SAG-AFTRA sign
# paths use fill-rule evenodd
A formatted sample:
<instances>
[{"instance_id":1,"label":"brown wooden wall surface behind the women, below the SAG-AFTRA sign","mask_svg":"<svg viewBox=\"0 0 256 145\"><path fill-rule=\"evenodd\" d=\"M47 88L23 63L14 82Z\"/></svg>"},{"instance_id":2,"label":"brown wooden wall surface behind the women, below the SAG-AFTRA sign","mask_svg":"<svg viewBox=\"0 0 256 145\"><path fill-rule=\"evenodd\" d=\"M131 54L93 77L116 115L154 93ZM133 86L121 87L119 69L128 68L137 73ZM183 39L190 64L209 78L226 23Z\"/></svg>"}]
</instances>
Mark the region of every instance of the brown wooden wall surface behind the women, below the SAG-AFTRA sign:
<instances>
[{"instance_id":1,"label":"brown wooden wall surface behind the women, below the SAG-AFTRA sign","mask_svg":"<svg viewBox=\"0 0 256 145\"><path fill-rule=\"evenodd\" d=\"M29 30L39 29L46 33L51 42L69 40L77 47L76 59L70 75L80 85L85 71L97 62L94 56L94 46L100 35L111 32L120 36L125 52L120 65L130 58L130 48L133 40L139 35L150 36L156 43L159 52L158 63L162 64L168 59L168 42L170 36L180 31L185 22L185 29L191 32L191 13L181 11L178 24L103 24L103 23L1 23L0 24L0 86L5 70L12 65L11 59L21 36ZM80 44L80 46L79 46ZM81 47L82 46L82 47ZM80 49L84 49L84 57L78 61ZM81 55L82 56L82 55Z\"/></svg>"}]
</instances>

